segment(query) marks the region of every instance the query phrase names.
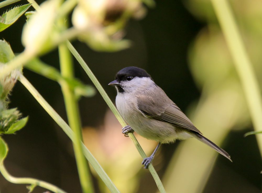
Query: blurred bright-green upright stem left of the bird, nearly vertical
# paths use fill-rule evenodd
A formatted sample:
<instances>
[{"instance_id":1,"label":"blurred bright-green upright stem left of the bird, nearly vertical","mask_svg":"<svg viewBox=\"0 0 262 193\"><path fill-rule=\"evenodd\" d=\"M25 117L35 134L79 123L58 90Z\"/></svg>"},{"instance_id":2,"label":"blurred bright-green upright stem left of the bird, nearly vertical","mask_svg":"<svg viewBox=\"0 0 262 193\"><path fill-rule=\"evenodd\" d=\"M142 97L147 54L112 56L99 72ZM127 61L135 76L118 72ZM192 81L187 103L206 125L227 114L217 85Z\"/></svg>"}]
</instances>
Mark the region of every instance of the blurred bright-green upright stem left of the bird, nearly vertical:
<instances>
[{"instance_id":1,"label":"blurred bright-green upright stem left of the bird, nearly vertical","mask_svg":"<svg viewBox=\"0 0 262 193\"><path fill-rule=\"evenodd\" d=\"M66 28L66 23L64 22L63 18L58 21L58 26L60 30L64 30ZM69 52L65 43L62 43L58 46L58 52L61 75L65 78L74 78L72 55ZM94 187L92 185L92 177L90 175L90 169L88 167L88 164L83 154L83 149L81 147L83 136L81 130L82 127L79 109L77 104L78 101L74 94L74 90L70 88L67 82L63 81L60 84L64 96L65 109L67 111L69 126L75 133L76 141L75 143L73 143L73 148L75 153L75 159L77 162L80 184L84 193L94 192Z\"/></svg>"}]
</instances>

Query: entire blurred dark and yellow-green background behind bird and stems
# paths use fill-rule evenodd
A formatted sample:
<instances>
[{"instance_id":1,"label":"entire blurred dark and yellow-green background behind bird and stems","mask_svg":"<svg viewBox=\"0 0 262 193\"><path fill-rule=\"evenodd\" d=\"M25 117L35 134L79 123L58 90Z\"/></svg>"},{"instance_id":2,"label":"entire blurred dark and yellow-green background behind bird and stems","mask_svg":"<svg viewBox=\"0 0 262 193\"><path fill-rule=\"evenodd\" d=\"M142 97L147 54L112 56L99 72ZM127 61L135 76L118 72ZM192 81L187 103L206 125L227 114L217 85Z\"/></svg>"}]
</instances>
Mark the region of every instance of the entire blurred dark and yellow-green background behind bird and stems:
<instances>
[{"instance_id":1,"label":"entire blurred dark and yellow-green background behind bird and stems","mask_svg":"<svg viewBox=\"0 0 262 193\"><path fill-rule=\"evenodd\" d=\"M262 85L262 3L230 2ZM1 13L10 7L1 9ZM15 53L24 49L21 45L24 23L25 16L0 34ZM116 53L95 52L79 41L73 45L113 101L116 91L107 84L117 71L127 66L146 69L196 127L233 160L229 162L194 139L165 144L153 164L166 191L261 192L261 155L255 136L244 138L244 133L252 131L249 112L210 1L156 1L156 7L148 9L144 19L128 23L126 37L132 40L132 47ZM57 50L41 59L59 68ZM75 74L84 83L92 84L76 61ZM66 120L60 86L27 69L24 75ZM24 116L29 116L29 122L16 135L3 137L10 149L5 160L8 171L14 176L51 182L67 192L81 192L69 138L19 82L10 101L10 108L18 107ZM121 133L120 124L102 97L96 94L93 98L81 98L79 105L86 146L118 189L156 192L149 171L141 169L142 158ZM138 140L150 155L156 144L139 137ZM96 192L108 192L95 173L93 180ZM11 184L1 175L0 191L27 192L25 185ZM44 191L40 187L34 190Z\"/></svg>"}]
</instances>

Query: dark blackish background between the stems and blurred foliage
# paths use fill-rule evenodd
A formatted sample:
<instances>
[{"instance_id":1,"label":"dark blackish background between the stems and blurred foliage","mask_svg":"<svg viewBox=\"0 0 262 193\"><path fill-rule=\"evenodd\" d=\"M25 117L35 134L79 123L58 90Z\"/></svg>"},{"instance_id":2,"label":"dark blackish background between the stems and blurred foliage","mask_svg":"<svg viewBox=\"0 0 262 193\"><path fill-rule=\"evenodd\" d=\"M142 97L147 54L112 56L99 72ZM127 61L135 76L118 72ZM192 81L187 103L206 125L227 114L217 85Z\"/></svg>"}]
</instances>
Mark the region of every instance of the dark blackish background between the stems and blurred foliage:
<instances>
[{"instance_id":1,"label":"dark blackish background between the stems and blurred foliage","mask_svg":"<svg viewBox=\"0 0 262 193\"><path fill-rule=\"evenodd\" d=\"M26 3L21 1L12 6ZM37 3L40 4L41 1ZM10 7L2 8L1 13ZM22 16L0 34L0 38L8 41L15 53L24 50L21 45L24 23L25 16ZM188 69L187 51L203 25L204 23L194 19L182 1L156 1L156 7L148 9L144 19L131 20L128 23L126 38L132 40L131 48L116 53L103 53L95 52L79 41L74 41L73 45L113 101L116 91L107 84L114 79L118 70L127 66L138 66L146 69L154 81L184 111L200 96L200 91L196 88ZM41 59L59 69L57 50ZM84 83L92 84L76 61L75 74ZM27 69L24 69L24 75L63 119L67 120L58 83ZM68 145L69 138L21 83L15 85L10 101L10 108L17 107L23 116L29 116L29 121L16 135L3 136L9 146L9 153L5 160L7 170L17 177L28 176L51 182L67 192L81 192L75 158L70 153L72 146ZM79 105L83 126L101 125L107 105L99 94L92 98L81 98ZM219 156L204 189L205 193L247 192L240 185L243 179L254 186L254 192L260 192L259 172L262 163L257 143L254 136L243 137L244 133L250 130L251 128L234 131L227 137L223 149L230 152L231 157L237 161L230 163ZM158 171L160 178L176 146L177 143L163 145L161 151L165 163ZM227 172L227 167L231 168L231 173ZM157 187L149 172L145 179L147 183L141 180L139 192L155 192ZM2 193L27 192L25 185L11 184L2 176L0 176L0 190ZM96 190L99 192L97 185ZM44 191L37 187L34 192Z\"/></svg>"}]
</instances>

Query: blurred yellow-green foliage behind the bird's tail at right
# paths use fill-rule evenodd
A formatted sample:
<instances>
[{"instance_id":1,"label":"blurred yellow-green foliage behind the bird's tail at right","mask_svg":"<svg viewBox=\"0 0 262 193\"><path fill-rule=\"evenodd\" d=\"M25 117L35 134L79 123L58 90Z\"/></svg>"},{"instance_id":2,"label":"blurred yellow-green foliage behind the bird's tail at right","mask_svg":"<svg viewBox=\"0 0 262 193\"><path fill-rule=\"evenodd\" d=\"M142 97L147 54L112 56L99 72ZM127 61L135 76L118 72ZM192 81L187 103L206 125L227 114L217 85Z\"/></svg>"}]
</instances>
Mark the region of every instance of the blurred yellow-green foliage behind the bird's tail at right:
<instances>
[{"instance_id":1,"label":"blurred yellow-green foliage behind the bird's tail at right","mask_svg":"<svg viewBox=\"0 0 262 193\"><path fill-rule=\"evenodd\" d=\"M261 1L230 2L262 84L262 46L258 44L262 40ZM221 145L232 128L239 130L250 125L250 115L242 85L210 1L189 0L185 1L185 5L197 18L207 23L189 49L190 69L201 89L201 98L191 108L190 117L204 136ZM217 155L208 147L200 146L193 140L179 145L165 174L167 192L203 191ZM232 160L234 164L234 157Z\"/></svg>"}]
</instances>

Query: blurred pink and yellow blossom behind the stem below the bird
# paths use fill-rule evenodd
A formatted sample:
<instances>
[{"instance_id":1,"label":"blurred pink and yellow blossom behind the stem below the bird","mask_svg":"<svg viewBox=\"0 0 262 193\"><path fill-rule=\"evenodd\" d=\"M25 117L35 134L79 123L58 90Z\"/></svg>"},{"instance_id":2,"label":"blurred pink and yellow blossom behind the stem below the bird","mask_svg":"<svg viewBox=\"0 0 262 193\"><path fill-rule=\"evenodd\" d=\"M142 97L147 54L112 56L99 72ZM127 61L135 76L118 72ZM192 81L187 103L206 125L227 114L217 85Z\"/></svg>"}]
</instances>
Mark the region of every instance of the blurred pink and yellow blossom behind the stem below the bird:
<instances>
[{"instance_id":1,"label":"blurred pink and yellow blossom behind the stem below the bird","mask_svg":"<svg viewBox=\"0 0 262 193\"><path fill-rule=\"evenodd\" d=\"M83 130L84 143L92 154L103 165L106 173L116 184L120 192L137 192L141 175L141 156L132 141L116 128L121 128L116 117L107 111L104 124L99 130L85 127ZM146 140L136 135L146 154L150 154L156 142ZM117 139L117 140L112 140ZM93 171L93 174L95 172ZM99 180L101 192L110 192L104 183Z\"/></svg>"}]
</instances>

